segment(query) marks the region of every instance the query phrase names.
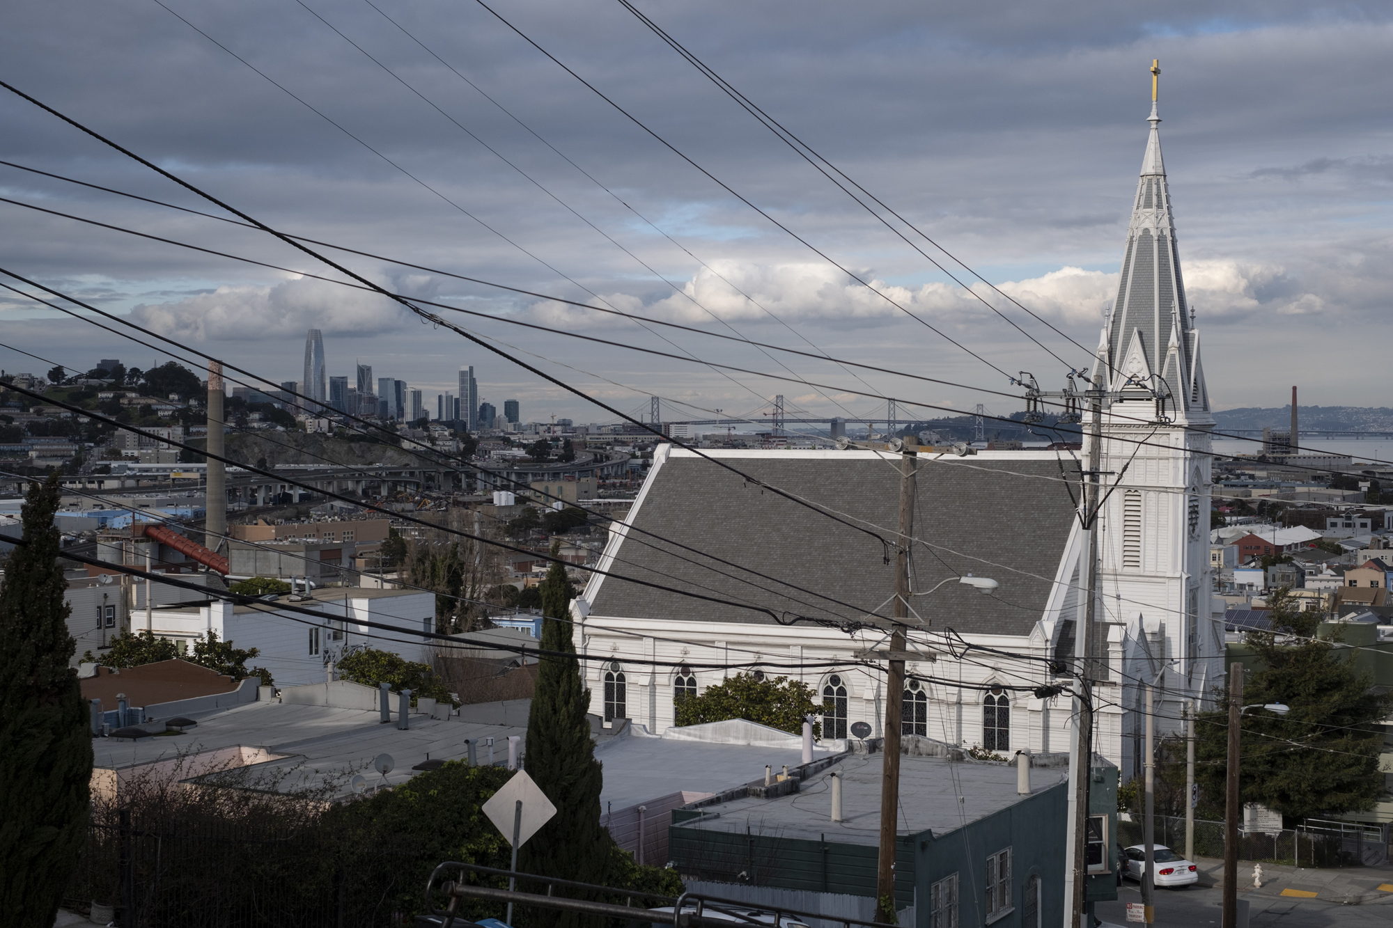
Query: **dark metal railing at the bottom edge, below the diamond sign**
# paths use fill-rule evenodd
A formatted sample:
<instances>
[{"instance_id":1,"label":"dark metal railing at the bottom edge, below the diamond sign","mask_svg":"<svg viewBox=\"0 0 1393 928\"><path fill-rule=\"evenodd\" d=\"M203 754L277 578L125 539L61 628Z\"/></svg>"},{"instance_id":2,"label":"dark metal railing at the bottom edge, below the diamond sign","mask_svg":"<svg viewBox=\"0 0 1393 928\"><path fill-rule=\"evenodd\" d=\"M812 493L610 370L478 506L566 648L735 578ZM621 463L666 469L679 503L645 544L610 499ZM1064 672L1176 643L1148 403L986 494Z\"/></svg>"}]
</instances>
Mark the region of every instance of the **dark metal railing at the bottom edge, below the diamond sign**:
<instances>
[{"instance_id":1,"label":"dark metal railing at the bottom edge, below the diamond sign","mask_svg":"<svg viewBox=\"0 0 1393 928\"><path fill-rule=\"evenodd\" d=\"M444 874L456 871L460 879L442 879ZM522 892L482 886L467 882L471 875L481 876L515 876L520 885L545 885L546 895L536 892ZM596 897L624 897L624 904L600 902L599 899L574 899L557 896L557 889L578 890ZM436 900L444 896L449 903L444 908L436 906ZM652 925L674 925L677 928L730 928L731 922L745 925L759 925L759 928L794 928L811 922L833 922L843 928L876 928L876 922L843 915L827 917L818 913L798 911L779 906L754 907L749 903L736 899L722 899L706 893L683 893L681 896L660 896L630 889L614 889L613 886L596 886L593 883L579 883L570 879L553 876L539 876L536 874L514 874L507 869L481 867L478 864L461 864L446 861L435 868L430 881L426 883L426 910L429 918L440 928L454 928L457 924L468 924L458 911L462 899L479 899L495 903L513 903L515 906L529 906L538 908L553 908L559 911L579 911L592 915L606 915L630 922ZM637 907L634 900L653 903L652 907ZM670 910L670 911L664 911ZM688 911L690 910L690 911ZM717 915L717 917L713 917ZM772 921L770 921L772 918Z\"/></svg>"}]
</instances>

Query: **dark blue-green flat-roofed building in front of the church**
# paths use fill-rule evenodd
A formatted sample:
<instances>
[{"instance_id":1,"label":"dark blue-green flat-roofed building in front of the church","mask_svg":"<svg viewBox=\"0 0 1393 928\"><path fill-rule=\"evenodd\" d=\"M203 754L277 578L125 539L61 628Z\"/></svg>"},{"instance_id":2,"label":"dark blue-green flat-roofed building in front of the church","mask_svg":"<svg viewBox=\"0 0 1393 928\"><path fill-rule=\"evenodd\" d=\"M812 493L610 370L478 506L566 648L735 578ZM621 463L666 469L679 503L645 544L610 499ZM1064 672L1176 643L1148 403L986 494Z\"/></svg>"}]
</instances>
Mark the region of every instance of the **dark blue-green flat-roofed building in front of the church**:
<instances>
[{"instance_id":1,"label":"dark blue-green flat-roofed building in front of the church","mask_svg":"<svg viewBox=\"0 0 1393 928\"><path fill-rule=\"evenodd\" d=\"M853 743L855 744L855 743ZM873 743L872 743L873 744ZM972 762L929 738L907 737L896 837L896 910L918 928L1057 928L1064 921L1067 755L1035 758L1028 791L1014 764ZM958 758L958 759L953 759ZM826 762L815 764L814 768ZM727 883L758 902L759 888L861 897L875 907L879 860L878 754L847 754L787 784L762 780L674 810L667 854L684 879ZM841 818L832 819L833 776ZM1092 903L1117 897L1117 768L1095 768L1089 885ZM815 899L809 896L809 899ZM912 910L912 921L910 921Z\"/></svg>"}]
</instances>

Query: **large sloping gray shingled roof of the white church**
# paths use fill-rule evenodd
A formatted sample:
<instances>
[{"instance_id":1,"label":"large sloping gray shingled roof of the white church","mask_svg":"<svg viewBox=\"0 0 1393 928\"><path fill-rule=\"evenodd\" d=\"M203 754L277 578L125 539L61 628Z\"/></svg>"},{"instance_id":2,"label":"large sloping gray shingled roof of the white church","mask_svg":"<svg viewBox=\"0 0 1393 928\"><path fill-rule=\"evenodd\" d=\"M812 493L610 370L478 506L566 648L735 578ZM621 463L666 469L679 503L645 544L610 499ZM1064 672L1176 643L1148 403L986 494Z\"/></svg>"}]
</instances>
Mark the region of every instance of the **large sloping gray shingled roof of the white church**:
<instances>
[{"instance_id":1,"label":"large sloping gray shingled roof of the white church","mask_svg":"<svg viewBox=\"0 0 1393 928\"><path fill-rule=\"evenodd\" d=\"M749 451L727 460L756 479L833 510L876 525L893 527L897 523L897 460L857 451L830 456ZM935 460L922 456L919 460L917 538L1039 577L1055 577L1068 539L1074 504L1067 486L1057 479L1060 463L1053 456L1034 456L1034 460ZM1071 479L1077 479L1077 464L1066 458L1063 467ZM886 603L894 589L893 555L892 563L886 564L883 548L875 538L749 485L736 474L680 449L652 478L646 497L632 513L632 521L662 538L798 584L848 606L631 532L610 566L618 577L599 582L591 603L593 616L772 621L751 609L645 588L620 577L748 602L777 613L839 621L864 619L865 613ZM893 541L890 535L886 539ZM917 546L915 591L968 573L997 580L1000 588L996 595L986 596L963 584L946 584L931 596L914 599L915 610L935 628L1029 634L1043 613L1052 585L1049 580L1010 573L946 550L935 556L922 545ZM889 614L889 608L882 614Z\"/></svg>"}]
</instances>

